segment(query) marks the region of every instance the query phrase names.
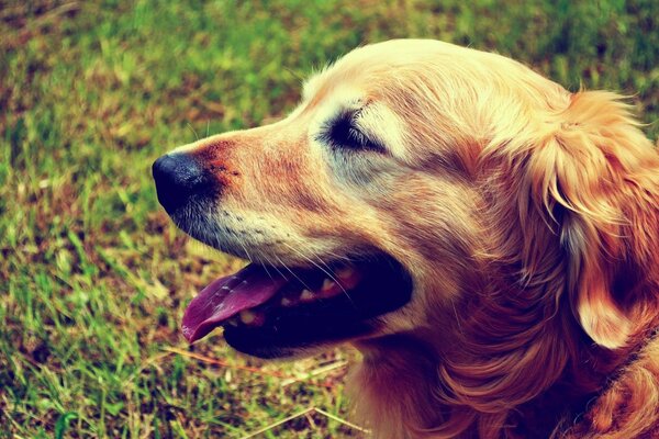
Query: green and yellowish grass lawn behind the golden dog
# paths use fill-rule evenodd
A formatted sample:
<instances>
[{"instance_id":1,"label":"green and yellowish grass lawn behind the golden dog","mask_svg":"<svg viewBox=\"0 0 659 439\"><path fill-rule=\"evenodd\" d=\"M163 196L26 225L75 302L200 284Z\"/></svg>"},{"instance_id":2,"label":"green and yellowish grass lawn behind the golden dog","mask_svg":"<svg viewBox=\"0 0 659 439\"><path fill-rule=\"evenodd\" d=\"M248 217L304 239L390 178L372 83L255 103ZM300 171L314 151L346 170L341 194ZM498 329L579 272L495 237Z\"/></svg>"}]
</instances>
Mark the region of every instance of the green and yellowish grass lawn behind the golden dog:
<instances>
[{"instance_id":1,"label":"green and yellowish grass lawn behind the golden dog","mask_svg":"<svg viewBox=\"0 0 659 439\"><path fill-rule=\"evenodd\" d=\"M280 116L313 68L405 36L633 94L656 139L659 3L552 3L0 1L0 437L241 438L309 407L348 417L345 368L306 374L354 353L264 364L220 336L188 350L187 302L241 262L176 230L150 162ZM356 435L312 414L263 437Z\"/></svg>"}]
</instances>

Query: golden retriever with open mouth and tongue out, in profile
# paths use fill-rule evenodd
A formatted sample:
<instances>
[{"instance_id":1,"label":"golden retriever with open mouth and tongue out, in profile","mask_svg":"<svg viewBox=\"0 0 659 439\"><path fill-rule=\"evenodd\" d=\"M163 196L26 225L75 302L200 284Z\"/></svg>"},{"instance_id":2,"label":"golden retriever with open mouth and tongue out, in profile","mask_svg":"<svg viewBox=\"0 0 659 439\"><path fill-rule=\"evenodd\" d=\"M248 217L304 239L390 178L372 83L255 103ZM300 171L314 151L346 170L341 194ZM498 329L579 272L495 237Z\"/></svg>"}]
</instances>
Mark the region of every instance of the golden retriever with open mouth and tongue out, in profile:
<instances>
[{"instance_id":1,"label":"golden retriever with open mouth and tongue out, in profile","mask_svg":"<svg viewBox=\"0 0 659 439\"><path fill-rule=\"evenodd\" d=\"M354 345L377 438L659 438L659 155L622 97L389 41L153 173L179 228L252 261L192 300L190 342Z\"/></svg>"}]
</instances>

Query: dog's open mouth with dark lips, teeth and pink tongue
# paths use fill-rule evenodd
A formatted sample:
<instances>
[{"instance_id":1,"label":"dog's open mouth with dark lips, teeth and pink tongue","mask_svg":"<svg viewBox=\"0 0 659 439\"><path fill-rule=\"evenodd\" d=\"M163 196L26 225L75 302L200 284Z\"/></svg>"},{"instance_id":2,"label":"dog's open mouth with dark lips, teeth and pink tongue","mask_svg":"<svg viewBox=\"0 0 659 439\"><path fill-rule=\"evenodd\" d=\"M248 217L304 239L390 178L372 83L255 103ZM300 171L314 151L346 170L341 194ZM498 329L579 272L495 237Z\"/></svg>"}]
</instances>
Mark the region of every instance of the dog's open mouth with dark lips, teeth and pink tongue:
<instances>
[{"instance_id":1,"label":"dog's open mouth with dark lips, teeth and pink tongue","mask_svg":"<svg viewBox=\"0 0 659 439\"><path fill-rule=\"evenodd\" d=\"M261 358L373 333L375 317L410 301L412 281L389 256L316 268L252 263L190 302L182 331L193 342L224 327L235 349Z\"/></svg>"}]
</instances>

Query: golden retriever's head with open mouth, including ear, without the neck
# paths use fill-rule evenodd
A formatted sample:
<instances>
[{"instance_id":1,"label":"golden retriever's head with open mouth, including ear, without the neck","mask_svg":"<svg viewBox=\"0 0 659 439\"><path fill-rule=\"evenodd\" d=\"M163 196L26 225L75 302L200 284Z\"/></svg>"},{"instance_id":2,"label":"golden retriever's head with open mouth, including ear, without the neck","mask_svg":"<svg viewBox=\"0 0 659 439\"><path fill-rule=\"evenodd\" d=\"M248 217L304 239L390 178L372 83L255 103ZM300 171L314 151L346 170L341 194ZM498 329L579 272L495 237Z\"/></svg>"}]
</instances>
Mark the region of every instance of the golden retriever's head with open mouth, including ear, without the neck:
<instances>
[{"instance_id":1,"label":"golden retriever's head with open mouth, including ear, without the neck","mask_svg":"<svg viewBox=\"0 0 659 439\"><path fill-rule=\"evenodd\" d=\"M644 226L629 217L650 214L616 185L656 183L639 171L657 160L647 146L611 95L570 94L511 59L434 41L358 48L284 120L154 164L175 223L253 262L192 301L183 333L224 326L259 357L424 328L440 340L491 282L549 282L560 291L543 301L565 290L585 333L619 347L619 293L638 283L621 273L649 270L629 255L649 251L656 224L623 244Z\"/></svg>"}]
</instances>

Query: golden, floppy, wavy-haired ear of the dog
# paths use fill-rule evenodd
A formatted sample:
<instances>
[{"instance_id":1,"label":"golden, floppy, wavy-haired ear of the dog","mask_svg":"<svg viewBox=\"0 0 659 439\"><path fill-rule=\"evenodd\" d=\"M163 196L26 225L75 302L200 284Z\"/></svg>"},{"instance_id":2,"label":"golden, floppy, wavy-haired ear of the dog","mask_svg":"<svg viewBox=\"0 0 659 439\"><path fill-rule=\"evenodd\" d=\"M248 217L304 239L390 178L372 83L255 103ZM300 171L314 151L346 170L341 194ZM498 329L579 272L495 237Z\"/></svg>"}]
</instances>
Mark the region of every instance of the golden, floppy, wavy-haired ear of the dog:
<instances>
[{"instance_id":1,"label":"golden, floppy, wavy-haired ear of the dog","mask_svg":"<svg viewBox=\"0 0 659 439\"><path fill-rule=\"evenodd\" d=\"M558 235L555 256L567 270L566 288L583 330L596 344L616 349L633 329L617 277L629 257L624 235L634 233L629 224L643 198L635 171L649 153L644 148L651 147L614 93L576 93L557 116L555 130L529 150L527 191L521 196L532 203L518 205L534 210ZM543 249L529 249L534 251Z\"/></svg>"}]
</instances>

